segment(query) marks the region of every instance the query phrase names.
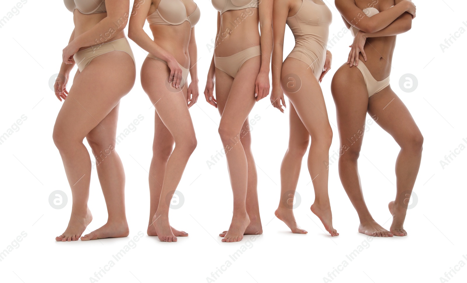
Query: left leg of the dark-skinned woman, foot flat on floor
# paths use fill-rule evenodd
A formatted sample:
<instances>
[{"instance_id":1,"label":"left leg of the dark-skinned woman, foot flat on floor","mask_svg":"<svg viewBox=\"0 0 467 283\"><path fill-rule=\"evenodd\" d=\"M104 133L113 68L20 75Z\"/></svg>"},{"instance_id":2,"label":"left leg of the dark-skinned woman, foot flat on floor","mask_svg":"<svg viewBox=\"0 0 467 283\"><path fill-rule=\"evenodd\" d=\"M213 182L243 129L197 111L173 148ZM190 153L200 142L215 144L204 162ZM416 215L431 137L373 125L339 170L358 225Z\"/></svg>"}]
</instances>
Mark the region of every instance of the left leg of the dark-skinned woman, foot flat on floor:
<instances>
[{"instance_id":1,"label":"left leg of the dark-skinned woman, foot flat on floor","mask_svg":"<svg viewBox=\"0 0 467 283\"><path fill-rule=\"evenodd\" d=\"M347 64L340 67L331 84L339 128L340 182L358 213L360 219L358 232L369 236L392 237L392 233L373 219L363 198L357 161L365 132L368 91L360 70L348 69Z\"/></svg>"}]
</instances>

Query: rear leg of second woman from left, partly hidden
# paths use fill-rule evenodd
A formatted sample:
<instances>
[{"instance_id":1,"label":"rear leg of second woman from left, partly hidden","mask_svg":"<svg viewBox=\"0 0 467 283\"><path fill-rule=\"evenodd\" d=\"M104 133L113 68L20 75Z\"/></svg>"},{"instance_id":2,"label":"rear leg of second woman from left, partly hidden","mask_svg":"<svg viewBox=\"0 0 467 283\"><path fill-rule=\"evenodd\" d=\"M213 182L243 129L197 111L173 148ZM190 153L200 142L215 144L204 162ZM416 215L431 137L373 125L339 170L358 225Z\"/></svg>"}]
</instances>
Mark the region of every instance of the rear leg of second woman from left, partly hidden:
<instances>
[{"instance_id":1,"label":"rear leg of second woman from left, partly hidden","mask_svg":"<svg viewBox=\"0 0 467 283\"><path fill-rule=\"evenodd\" d=\"M165 167L167 166L167 161L169 160L175 144L172 134L170 134L170 131L165 127L157 112L154 114L154 142L152 145L151 166L149 167L150 208L147 231L149 236L157 236L156 227L153 225L152 221L156 214L157 207L159 206L159 199L161 198ZM172 233L176 237L188 236L188 233L178 231L172 226L170 227L172 229Z\"/></svg>"}]
</instances>

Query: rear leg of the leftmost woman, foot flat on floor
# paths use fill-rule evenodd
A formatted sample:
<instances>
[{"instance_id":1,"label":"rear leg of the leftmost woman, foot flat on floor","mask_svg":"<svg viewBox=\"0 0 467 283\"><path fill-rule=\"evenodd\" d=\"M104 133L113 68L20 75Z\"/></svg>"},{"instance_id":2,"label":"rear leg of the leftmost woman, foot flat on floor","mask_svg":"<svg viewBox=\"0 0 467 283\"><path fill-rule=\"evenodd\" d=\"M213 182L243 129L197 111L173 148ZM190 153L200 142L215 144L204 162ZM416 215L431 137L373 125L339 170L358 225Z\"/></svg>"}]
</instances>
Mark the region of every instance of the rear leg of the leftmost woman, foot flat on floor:
<instances>
[{"instance_id":1,"label":"rear leg of the leftmost woman, foot flat on floor","mask_svg":"<svg viewBox=\"0 0 467 283\"><path fill-rule=\"evenodd\" d=\"M115 150L118 109L120 103L86 136L96 158L97 175L106 199L108 219L99 229L81 237L82 241L127 237L129 234L125 214L125 171Z\"/></svg>"}]
</instances>

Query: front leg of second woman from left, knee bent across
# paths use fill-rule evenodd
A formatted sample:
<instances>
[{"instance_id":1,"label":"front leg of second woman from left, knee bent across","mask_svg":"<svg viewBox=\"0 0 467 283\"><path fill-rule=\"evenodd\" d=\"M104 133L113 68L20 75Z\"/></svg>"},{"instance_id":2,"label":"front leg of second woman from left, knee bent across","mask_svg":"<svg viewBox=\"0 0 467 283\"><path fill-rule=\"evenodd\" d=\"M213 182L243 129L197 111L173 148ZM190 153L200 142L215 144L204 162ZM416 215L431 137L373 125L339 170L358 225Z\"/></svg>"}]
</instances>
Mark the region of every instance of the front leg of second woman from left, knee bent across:
<instances>
[{"instance_id":1,"label":"front leg of second woman from left, knee bent across","mask_svg":"<svg viewBox=\"0 0 467 283\"><path fill-rule=\"evenodd\" d=\"M182 178L191 153L196 148L196 136L186 102L186 87L177 92L166 88L170 69L166 64L154 64L146 58L141 68L141 83L163 124L175 141L175 148L165 166L160 200L153 216L153 225L160 241L175 242L169 223L170 199ZM169 202L167 201L169 200Z\"/></svg>"}]
</instances>

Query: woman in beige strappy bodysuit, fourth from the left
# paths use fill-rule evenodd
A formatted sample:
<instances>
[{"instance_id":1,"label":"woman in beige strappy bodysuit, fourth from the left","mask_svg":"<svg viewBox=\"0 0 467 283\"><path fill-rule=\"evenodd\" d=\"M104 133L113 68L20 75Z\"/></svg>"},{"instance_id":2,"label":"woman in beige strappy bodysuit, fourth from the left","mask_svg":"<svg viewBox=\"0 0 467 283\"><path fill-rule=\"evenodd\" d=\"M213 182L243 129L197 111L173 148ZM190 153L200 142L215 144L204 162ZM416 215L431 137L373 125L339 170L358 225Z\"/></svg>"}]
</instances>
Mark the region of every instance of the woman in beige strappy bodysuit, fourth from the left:
<instances>
[{"instance_id":1,"label":"woman in beige strappy bodysuit, fourth from the left","mask_svg":"<svg viewBox=\"0 0 467 283\"><path fill-rule=\"evenodd\" d=\"M284 93L290 101L289 147L281 164L281 198L275 213L293 233L307 233L297 226L292 204L311 138L308 170L315 191L311 212L331 236L339 235L333 228L328 195L327 165L333 131L319 86L331 69L331 52L326 50L331 22L331 11L322 0L274 1L271 103L283 113ZM295 37L295 48L283 61L286 24Z\"/></svg>"}]
</instances>

